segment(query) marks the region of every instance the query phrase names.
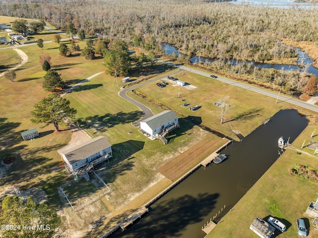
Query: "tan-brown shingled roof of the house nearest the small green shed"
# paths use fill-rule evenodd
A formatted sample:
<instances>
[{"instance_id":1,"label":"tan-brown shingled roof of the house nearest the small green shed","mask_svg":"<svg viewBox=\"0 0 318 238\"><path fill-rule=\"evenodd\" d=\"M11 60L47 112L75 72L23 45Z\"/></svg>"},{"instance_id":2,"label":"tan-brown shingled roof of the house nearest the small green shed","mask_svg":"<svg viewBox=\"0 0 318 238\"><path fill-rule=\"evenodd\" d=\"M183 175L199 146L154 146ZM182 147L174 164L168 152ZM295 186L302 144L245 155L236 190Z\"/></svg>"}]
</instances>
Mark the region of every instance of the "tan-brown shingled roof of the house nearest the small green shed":
<instances>
[{"instance_id":1,"label":"tan-brown shingled roof of the house nearest the small green shed","mask_svg":"<svg viewBox=\"0 0 318 238\"><path fill-rule=\"evenodd\" d=\"M61 154L65 155L69 162L72 164L81 159L92 156L95 153L102 151L108 147L111 147L111 144L106 139L106 137L99 136L86 141L76 147L62 151Z\"/></svg>"}]
</instances>

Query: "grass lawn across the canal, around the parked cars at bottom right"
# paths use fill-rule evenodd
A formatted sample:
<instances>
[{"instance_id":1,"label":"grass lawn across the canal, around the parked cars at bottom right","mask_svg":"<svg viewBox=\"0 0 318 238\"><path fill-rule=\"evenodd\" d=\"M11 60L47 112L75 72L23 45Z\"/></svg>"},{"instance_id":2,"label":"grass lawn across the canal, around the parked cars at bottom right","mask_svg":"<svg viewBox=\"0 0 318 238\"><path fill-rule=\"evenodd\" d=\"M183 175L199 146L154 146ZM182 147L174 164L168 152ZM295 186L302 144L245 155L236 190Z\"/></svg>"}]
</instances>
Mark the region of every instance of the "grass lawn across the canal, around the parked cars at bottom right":
<instances>
[{"instance_id":1,"label":"grass lawn across the canal, around the parked cars at bottom right","mask_svg":"<svg viewBox=\"0 0 318 238\"><path fill-rule=\"evenodd\" d=\"M287 230L279 235L280 238L297 238L296 219L308 218L311 226L308 237L317 237L318 232L311 224L313 219L305 212L310 202L317 199L318 183L290 175L289 169L295 163L318 169L316 158L288 149L222 219L208 238L256 238L249 226L257 216L264 220L269 216L279 218L287 226Z\"/></svg>"}]
</instances>

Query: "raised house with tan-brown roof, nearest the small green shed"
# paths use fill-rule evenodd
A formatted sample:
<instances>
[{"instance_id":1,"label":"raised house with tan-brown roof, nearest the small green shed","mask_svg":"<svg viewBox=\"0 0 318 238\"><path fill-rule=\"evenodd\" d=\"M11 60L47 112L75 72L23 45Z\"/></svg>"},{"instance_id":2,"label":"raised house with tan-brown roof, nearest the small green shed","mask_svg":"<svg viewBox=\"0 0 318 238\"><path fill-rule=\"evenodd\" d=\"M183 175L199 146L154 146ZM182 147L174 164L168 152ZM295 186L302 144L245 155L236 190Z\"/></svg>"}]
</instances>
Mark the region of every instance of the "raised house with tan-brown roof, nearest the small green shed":
<instances>
[{"instance_id":1,"label":"raised house with tan-brown roof, nearest the small green shed","mask_svg":"<svg viewBox=\"0 0 318 238\"><path fill-rule=\"evenodd\" d=\"M73 174L79 170L88 171L92 166L113 157L111 144L103 136L96 137L76 147L62 151L61 155Z\"/></svg>"}]
</instances>

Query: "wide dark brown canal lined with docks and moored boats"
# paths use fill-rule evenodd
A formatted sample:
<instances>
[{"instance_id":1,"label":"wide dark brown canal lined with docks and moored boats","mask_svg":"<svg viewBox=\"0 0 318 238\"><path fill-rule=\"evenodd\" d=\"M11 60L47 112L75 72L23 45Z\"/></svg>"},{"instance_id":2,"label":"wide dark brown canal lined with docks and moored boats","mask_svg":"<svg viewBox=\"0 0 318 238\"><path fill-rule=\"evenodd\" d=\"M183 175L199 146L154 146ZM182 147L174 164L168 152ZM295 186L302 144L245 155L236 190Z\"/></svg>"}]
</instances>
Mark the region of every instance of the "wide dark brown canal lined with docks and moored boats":
<instances>
[{"instance_id":1,"label":"wide dark brown canal lined with docks and moored boats","mask_svg":"<svg viewBox=\"0 0 318 238\"><path fill-rule=\"evenodd\" d=\"M141 220L111 237L203 238L204 223L224 205L227 211L232 208L279 158L278 138L290 137L292 142L307 125L306 117L296 110L279 111L242 142L221 151L227 160L197 169L152 204Z\"/></svg>"}]
</instances>

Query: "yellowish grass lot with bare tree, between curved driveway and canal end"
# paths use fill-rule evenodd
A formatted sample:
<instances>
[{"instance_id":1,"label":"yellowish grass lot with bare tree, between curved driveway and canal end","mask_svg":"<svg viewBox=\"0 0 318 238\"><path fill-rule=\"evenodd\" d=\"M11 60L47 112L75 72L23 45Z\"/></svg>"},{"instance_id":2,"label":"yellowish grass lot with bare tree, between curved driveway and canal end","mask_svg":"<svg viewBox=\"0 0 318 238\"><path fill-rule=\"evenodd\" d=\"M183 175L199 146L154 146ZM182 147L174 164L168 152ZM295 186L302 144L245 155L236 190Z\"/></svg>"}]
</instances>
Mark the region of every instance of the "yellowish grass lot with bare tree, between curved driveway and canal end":
<instances>
[{"instance_id":1,"label":"yellowish grass lot with bare tree, between curved driveway and canal end","mask_svg":"<svg viewBox=\"0 0 318 238\"><path fill-rule=\"evenodd\" d=\"M175 81L166 79L169 84L164 88L158 87L156 82L153 82L137 88L136 91L146 95L149 100L165 104L180 114L192 116L194 120L199 122L202 120L204 125L235 139L237 137L233 130L237 129L243 136L247 136L263 120L273 116L288 105L284 102L276 104L274 98L260 97L258 93L234 85L224 85L222 81L191 72L181 72L172 76L191 84L189 86L195 86L195 88L180 88L176 86ZM227 101L231 104L231 108L225 115L224 123L221 124L221 109L213 103L225 97L228 97ZM184 102L191 105L181 107ZM194 105L199 105L201 108L192 112L189 107Z\"/></svg>"}]
</instances>

